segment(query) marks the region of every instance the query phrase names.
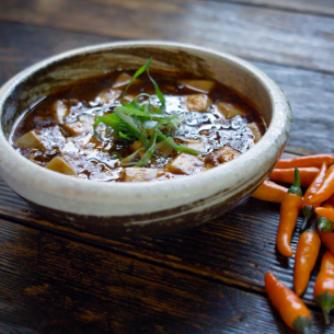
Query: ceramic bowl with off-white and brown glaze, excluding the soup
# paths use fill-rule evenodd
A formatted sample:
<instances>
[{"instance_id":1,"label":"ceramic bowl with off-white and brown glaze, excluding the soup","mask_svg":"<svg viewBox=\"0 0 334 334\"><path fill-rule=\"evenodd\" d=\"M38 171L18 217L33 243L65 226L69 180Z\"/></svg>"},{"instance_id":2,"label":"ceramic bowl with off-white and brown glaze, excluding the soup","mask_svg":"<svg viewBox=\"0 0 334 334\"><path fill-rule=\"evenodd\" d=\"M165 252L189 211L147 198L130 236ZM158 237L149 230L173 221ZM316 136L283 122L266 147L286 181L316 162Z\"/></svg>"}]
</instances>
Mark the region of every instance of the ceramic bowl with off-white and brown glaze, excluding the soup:
<instances>
[{"instance_id":1,"label":"ceramic bowl with off-white and brown glaze, excluding the soup","mask_svg":"<svg viewBox=\"0 0 334 334\"><path fill-rule=\"evenodd\" d=\"M73 81L115 68L152 68L212 77L247 96L268 130L238 159L200 174L148 183L101 183L43 169L21 157L8 137L22 112ZM228 54L165 42L127 42L68 51L22 71L0 90L0 174L56 224L104 237L172 232L205 222L237 206L279 159L291 128L283 91L251 64Z\"/></svg>"}]
</instances>

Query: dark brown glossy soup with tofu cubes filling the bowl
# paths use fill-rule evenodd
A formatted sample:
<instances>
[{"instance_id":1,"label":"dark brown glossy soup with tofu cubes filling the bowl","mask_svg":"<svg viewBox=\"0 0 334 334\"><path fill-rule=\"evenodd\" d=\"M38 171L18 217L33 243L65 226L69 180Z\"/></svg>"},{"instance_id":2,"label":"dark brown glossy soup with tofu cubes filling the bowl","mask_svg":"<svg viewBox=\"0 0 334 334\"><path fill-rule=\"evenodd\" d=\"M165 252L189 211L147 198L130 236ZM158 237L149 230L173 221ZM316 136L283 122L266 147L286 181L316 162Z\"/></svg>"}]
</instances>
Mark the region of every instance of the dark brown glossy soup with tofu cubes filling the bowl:
<instances>
[{"instance_id":1,"label":"dark brown glossy soup with tofu cubes filling the bowl","mask_svg":"<svg viewBox=\"0 0 334 334\"><path fill-rule=\"evenodd\" d=\"M129 105L124 110L130 113L124 119L134 123L141 137L119 118L117 128L96 124L115 116L133 76L134 71L114 71L45 96L15 124L11 145L32 162L59 173L138 182L215 168L246 152L265 131L256 108L232 89L212 79L162 71L150 76L164 95L164 113L146 73L129 85L124 97L124 103L130 103L138 94L151 95L138 97L134 115ZM124 115L119 111L117 117ZM146 112L151 118L141 117Z\"/></svg>"}]
</instances>

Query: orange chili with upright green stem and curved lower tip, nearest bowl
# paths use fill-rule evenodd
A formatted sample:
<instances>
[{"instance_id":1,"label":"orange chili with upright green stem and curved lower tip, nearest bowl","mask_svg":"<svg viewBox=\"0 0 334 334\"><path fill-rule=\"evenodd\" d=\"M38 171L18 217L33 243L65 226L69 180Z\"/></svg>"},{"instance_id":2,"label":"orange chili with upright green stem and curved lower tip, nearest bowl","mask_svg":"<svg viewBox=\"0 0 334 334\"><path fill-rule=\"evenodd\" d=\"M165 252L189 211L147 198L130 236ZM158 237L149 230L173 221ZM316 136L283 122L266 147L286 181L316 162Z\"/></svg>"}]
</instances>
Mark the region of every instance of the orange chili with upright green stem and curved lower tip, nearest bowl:
<instances>
[{"instance_id":1,"label":"orange chili with upright green stem and curved lower tip, nearest bowl","mask_svg":"<svg viewBox=\"0 0 334 334\"><path fill-rule=\"evenodd\" d=\"M276 235L278 252L284 256L292 256L290 246L292 232L301 208L301 188L298 169L295 169L295 183L288 189L280 205L279 226Z\"/></svg>"}]
</instances>

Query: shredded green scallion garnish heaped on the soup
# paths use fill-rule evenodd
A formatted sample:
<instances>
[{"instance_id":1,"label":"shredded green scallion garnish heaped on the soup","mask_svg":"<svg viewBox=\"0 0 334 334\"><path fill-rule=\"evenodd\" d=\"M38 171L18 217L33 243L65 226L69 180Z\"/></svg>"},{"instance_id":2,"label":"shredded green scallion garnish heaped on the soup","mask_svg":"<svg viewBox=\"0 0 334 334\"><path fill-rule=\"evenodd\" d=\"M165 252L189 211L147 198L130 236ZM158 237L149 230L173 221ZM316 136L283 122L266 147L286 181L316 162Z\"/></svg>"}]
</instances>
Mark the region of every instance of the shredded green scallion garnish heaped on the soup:
<instances>
[{"instance_id":1,"label":"shredded green scallion garnish heaped on the soup","mask_svg":"<svg viewBox=\"0 0 334 334\"><path fill-rule=\"evenodd\" d=\"M142 148L138 149L135 153L122 160L122 163L125 166L134 164L135 166L143 166L149 162L153 154L168 158L173 150L178 152L186 152L193 156L201 154L194 149L178 146L171 136L163 134L175 134L183 119L178 117L176 112L174 112L172 115L165 113L165 99L161 93L157 82L151 78L149 73L151 61L152 58L150 58L150 60L145 66L142 66L131 78L120 97L122 106L116 106L112 114L97 116L94 124L94 134L97 138L100 138L100 136L96 131L96 128L101 123L103 123L114 129L114 134L118 136L119 139L128 141L139 140L141 142ZM160 102L159 107L152 105L151 103L151 100L154 99L154 95L149 95L147 93L137 95L130 103L124 102L124 96L130 84L145 71L147 71L147 74L154 87L156 94ZM139 104L138 100L142 96L147 97L147 101ZM137 163L135 163L134 160L137 159L138 153L145 150L146 153Z\"/></svg>"}]
</instances>

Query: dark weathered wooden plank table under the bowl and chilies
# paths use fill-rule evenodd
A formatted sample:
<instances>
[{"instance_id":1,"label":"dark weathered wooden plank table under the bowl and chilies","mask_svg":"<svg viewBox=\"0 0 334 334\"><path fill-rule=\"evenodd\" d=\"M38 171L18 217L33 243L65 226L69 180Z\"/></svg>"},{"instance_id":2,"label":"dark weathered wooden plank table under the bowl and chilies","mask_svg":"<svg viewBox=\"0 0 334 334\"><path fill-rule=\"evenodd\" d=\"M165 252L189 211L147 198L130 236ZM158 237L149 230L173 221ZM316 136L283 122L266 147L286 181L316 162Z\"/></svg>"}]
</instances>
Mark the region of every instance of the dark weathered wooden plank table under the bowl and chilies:
<instances>
[{"instance_id":1,"label":"dark weathered wooden plank table under the bowl and chilies","mask_svg":"<svg viewBox=\"0 0 334 334\"><path fill-rule=\"evenodd\" d=\"M1 0L0 83L64 50L145 38L250 60L291 102L286 151L333 152L333 0ZM2 181L0 196L1 333L293 333L263 283L270 270L292 287L279 205L251 198L176 234L106 240L54 230ZM333 333L312 299L319 264L303 300L311 333Z\"/></svg>"}]
</instances>

